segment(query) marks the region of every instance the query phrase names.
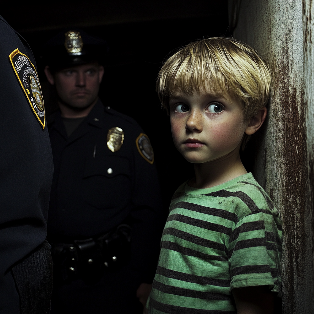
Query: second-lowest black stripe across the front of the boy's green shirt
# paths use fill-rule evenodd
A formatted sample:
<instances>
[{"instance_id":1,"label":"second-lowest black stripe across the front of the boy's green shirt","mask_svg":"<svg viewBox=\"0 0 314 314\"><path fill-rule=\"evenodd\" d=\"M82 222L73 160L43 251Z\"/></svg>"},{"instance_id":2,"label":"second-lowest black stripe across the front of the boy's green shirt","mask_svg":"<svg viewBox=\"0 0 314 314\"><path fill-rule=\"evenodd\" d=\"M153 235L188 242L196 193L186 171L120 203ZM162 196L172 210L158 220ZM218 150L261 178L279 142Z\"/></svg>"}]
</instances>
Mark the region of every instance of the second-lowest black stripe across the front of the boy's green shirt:
<instances>
[{"instance_id":1,"label":"second-lowest black stripe across the front of the boy's green shirt","mask_svg":"<svg viewBox=\"0 0 314 314\"><path fill-rule=\"evenodd\" d=\"M224 293L214 293L207 291L196 291L181 287L170 286L168 284L163 284L157 280L153 282L153 288L171 295L180 295L188 298L202 299L202 300L230 300L230 295Z\"/></svg>"}]
</instances>

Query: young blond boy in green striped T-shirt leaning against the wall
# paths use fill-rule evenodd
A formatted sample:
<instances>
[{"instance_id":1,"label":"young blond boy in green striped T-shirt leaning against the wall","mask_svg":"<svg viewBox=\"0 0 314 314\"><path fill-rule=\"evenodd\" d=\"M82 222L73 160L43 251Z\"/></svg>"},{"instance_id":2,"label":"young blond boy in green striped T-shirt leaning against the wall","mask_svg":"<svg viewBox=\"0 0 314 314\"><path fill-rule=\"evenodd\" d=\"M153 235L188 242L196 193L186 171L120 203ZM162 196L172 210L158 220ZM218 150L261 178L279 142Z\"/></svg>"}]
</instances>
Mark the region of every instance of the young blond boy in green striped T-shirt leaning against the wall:
<instances>
[{"instance_id":1,"label":"young blond boy in green striped T-shirt leaning against the wall","mask_svg":"<svg viewBox=\"0 0 314 314\"><path fill-rule=\"evenodd\" d=\"M175 192L148 313L273 313L281 297L278 210L239 151L263 124L269 68L230 38L193 42L160 70L157 92L195 177Z\"/></svg>"}]
</instances>

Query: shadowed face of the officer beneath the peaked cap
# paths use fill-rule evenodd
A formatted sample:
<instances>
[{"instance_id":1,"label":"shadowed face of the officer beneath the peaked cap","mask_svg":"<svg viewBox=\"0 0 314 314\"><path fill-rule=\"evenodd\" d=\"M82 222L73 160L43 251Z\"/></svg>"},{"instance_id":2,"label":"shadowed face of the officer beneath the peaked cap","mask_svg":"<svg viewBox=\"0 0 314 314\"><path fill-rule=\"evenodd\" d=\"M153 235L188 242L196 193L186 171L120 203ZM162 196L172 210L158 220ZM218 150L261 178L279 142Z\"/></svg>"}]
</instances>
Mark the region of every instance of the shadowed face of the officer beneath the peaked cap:
<instances>
[{"instance_id":1,"label":"shadowed face of the officer beneath the peaked cap","mask_svg":"<svg viewBox=\"0 0 314 314\"><path fill-rule=\"evenodd\" d=\"M57 93L65 105L87 108L97 98L103 75L104 67L95 62L62 69L53 75L52 80L48 80L56 85Z\"/></svg>"}]
</instances>

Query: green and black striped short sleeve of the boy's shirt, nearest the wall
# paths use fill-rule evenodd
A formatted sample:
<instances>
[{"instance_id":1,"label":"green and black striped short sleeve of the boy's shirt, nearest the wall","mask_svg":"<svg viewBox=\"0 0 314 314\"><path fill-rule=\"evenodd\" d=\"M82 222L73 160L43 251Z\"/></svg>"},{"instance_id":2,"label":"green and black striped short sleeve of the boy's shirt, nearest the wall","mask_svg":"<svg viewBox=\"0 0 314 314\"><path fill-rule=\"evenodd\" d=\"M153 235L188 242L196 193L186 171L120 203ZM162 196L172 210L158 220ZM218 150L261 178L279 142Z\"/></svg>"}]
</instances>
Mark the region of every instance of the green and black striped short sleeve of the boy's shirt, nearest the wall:
<instances>
[{"instance_id":1,"label":"green and black striped short sleeve of the boy's shirt, nearest the wall","mask_svg":"<svg viewBox=\"0 0 314 314\"><path fill-rule=\"evenodd\" d=\"M230 290L268 285L281 297L282 227L279 213L258 209L242 218L228 244Z\"/></svg>"}]
</instances>

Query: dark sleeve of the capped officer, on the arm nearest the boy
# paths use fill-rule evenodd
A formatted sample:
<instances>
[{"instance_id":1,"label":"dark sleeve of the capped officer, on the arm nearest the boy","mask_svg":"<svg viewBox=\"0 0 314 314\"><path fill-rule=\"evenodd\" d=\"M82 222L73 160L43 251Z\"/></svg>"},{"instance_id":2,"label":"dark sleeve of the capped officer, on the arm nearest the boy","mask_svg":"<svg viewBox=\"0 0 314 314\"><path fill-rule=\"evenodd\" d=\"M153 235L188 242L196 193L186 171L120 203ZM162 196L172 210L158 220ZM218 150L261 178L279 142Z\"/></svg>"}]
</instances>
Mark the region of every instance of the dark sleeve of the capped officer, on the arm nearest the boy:
<instances>
[{"instance_id":1,"label":"dark sleeve of the capped officer, on the arm nearest the boy","mask_svg":"<svg viewBox=\"0 0 314 314\"><path fill-rule=\"evenodd\" d=\"M142 282L151 283L157 268L164 222L156 165L143 155L145 152L138 140L140 134L143 131L139 129L133 138L132 263L140 271Z\"/></svg>"}]
</instances>

